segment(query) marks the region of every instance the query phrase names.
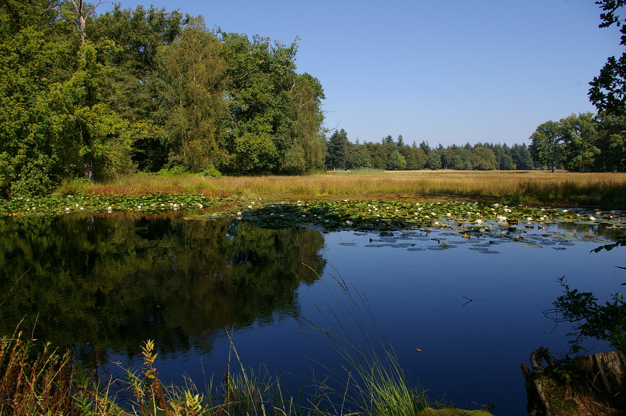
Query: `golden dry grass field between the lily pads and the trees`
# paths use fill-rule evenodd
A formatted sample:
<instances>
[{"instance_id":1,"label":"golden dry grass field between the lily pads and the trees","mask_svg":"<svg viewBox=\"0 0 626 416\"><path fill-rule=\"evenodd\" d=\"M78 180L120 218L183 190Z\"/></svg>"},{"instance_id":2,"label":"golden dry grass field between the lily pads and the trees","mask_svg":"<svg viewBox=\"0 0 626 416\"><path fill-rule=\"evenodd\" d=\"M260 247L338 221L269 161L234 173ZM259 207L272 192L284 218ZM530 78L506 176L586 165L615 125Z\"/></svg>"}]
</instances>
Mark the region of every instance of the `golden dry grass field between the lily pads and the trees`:
<instances>
[{"instance_id":1,"label":"golden dry grass field between the lily pads and the trees","mask_svg":"<svg viewBox=\"0 0 626 416\"><path fill-rule=\"evenodd\" d=\"M509 203L622 206L626 173L548 171L385 171L330 172L304 176L158 176L146 173L85 185L65 183L57 193L141 195L202 193L221 198L501 200Z\"/></svg>"}]
</instances>

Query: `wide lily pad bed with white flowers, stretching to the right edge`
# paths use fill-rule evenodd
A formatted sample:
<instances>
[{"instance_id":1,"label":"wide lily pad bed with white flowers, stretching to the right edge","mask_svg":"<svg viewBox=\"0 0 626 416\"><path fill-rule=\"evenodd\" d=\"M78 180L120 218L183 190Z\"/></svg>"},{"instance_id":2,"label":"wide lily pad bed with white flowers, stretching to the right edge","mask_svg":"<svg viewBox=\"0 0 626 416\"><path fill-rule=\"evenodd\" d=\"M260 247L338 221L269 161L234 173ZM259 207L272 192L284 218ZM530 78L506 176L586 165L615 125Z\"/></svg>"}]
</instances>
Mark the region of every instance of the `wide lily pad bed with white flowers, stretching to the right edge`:
<instances>
[{"instance_id":1,"label":"wide lily pad bed with white flowers, stretching to the right edge","mask_svg":"<svg viewBox=\"0 0 626 416\"><path fill-rule=\"evenodd\" d=\"M259 226L312 225L364 230L459 226L473 226L480 229L493 225L541 224L560 221L582 224L603 222L610 223L612 228L626 227L626 215L617 211L602 213L581 209L466 202L408 203L344 200L263 204L260 201L254 201L247 208L232 215L247 218L252 224Z\"/></svg>"}]
</instances>

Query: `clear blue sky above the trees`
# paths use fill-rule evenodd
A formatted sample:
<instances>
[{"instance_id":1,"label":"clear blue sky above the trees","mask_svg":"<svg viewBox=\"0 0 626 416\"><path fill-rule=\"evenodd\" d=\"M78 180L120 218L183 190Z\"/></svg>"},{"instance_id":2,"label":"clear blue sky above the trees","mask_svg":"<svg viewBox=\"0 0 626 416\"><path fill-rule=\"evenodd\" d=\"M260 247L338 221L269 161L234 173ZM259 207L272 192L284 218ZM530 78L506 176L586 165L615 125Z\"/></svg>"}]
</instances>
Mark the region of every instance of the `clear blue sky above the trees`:
<instances>
[{"instance_id":1,"label":"clear blue sky above the trees","mask_svg":"<svg viewBox=\"0 0 626 416\"><path fill-rule=\"evenodd\" d=\"M123 1L290 43L324 87L326 125L354 141L528 143L538 124L594 111L588 82L624 50L593 0ZM104 11L104 9L103 9Z\"/></svg>"}]
</instances>

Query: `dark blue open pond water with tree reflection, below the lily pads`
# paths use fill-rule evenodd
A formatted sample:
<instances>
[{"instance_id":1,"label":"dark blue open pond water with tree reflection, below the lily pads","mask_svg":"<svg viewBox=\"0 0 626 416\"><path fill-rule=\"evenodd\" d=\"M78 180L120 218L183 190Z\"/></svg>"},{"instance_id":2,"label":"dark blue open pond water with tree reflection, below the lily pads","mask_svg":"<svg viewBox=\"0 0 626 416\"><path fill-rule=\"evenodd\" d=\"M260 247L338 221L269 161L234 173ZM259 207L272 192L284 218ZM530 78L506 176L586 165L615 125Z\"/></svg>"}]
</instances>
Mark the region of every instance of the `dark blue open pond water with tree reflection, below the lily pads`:
<instances>
[{"instance_id":1,"label":"dark blue open pond water with tree reflection, below the lily pads","mask_svg":"<svg viewBox=\"0 0 626 416\"><path fill-rule=\"evenodd\" d=\"M33 338L73 348L105 373L113 362L140 365L141 342L155 339L160 376L200 384L225 372L228 328L246 367L264 364L297 387L303 375L323 375L322 365L343 364L297 319L316 315L313 302L328 296L322 280L341 274L431 396L525 415L520 362L540 345L562 352L571 332L541 313L560 294L557 278L608 299L626 282L615 268L626 251L590 253L615 237L602 225L520 227L466 238L270 229L180 212L4 217L0 328L12 333L23 320Z\"/></svg>"}]
</instances>

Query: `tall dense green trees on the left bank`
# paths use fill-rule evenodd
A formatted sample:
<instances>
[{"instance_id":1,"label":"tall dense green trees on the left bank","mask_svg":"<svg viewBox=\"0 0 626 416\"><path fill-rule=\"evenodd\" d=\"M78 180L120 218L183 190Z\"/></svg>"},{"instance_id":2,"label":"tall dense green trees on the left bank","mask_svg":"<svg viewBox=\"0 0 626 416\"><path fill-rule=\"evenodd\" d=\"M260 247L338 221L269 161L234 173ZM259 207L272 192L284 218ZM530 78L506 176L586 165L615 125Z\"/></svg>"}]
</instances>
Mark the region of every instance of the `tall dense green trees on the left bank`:
<instances>
[{"instance_id":1,"label":"tall dense green trees on the left bank","mask_svg":"<svg viewBox=\"0 0 626 416\"><path fill-rule=\"evenodd\" d=\"M321 169L324 92L297 44L138 6L0 3L0 191L132 171Z\"/></svg>"}]
</instances>

